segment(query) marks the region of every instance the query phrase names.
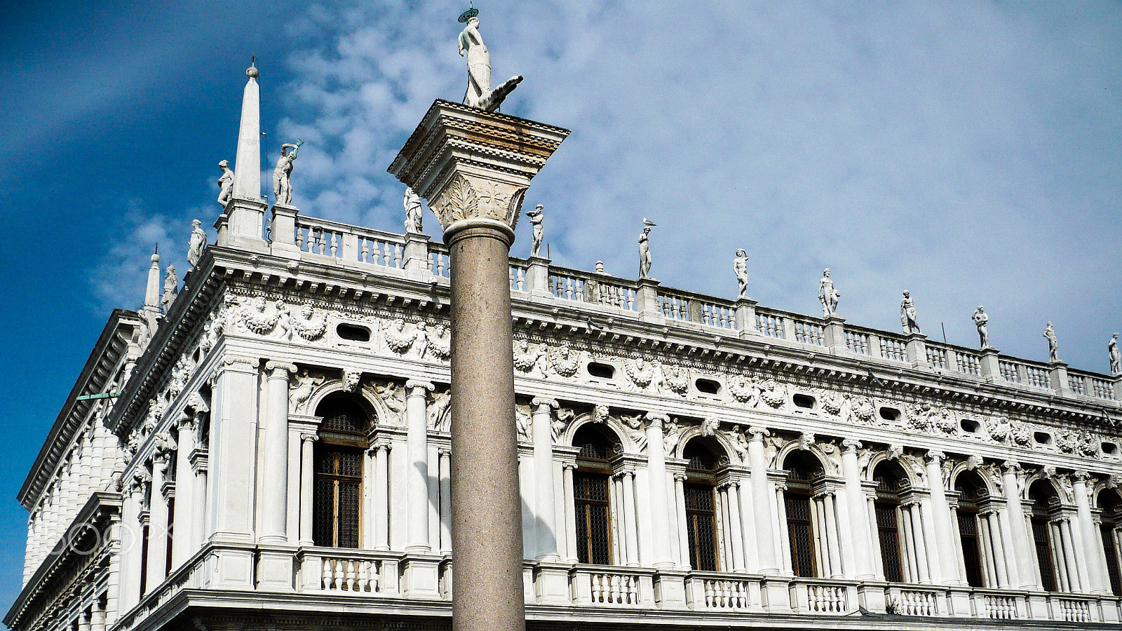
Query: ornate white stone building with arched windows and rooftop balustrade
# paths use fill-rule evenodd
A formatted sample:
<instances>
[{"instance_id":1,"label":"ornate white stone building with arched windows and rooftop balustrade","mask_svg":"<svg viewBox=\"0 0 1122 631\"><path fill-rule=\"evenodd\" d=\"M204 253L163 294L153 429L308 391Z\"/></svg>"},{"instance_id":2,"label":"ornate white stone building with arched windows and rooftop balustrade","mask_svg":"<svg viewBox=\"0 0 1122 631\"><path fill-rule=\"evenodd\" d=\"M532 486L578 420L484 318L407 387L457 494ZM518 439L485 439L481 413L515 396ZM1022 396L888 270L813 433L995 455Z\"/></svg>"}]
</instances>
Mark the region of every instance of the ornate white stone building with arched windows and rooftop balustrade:
<instances>
[{"instance_id":1,"label":"ornate white stone building with arched windows and rooftop balustrade","mask_svg":"<svg viewBox=\"0 0 1122 631\"><path fill-rule=\"evenodd\" d=\"M52 428L6 624L448 628L447 249L226 192ZM509 268L531 628L1119 624L1119 375Z\"/></svg>"}]
</instances>

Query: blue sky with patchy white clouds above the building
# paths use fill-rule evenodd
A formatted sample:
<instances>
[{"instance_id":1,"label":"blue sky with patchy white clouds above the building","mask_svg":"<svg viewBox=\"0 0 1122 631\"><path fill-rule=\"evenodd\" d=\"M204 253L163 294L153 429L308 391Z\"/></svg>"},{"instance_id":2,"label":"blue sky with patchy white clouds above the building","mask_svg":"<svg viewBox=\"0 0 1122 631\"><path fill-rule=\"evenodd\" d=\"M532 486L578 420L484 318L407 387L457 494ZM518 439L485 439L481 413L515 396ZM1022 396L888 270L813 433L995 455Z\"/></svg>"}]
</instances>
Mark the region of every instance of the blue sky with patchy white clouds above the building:
<instances>
[{"instance_id":1,"label":"blue sky with patchy white clouds above the building","mask_svg":"<svg viewBox=\"0 0 1122 631\"><path fill-rule=\"evenodd\" d=\"M459 100L451 2L42 1L0 15L0 606L19 589L15 494L109 311L181 271L213 223L243 71L266 163L302 138L302 212L401 230L388 174L434 98ZM663 284L1105 371L1119 298L1122 3L480 2L505 111L572 135L534 181L554 262L634 277L642 218ZM268 165L267 165L268 166ZM268 166L270 168L270 166ZM519 226L516 255L528 252ZM435 219L426 217L434 234Z\"/></svg>"}]
</instances>

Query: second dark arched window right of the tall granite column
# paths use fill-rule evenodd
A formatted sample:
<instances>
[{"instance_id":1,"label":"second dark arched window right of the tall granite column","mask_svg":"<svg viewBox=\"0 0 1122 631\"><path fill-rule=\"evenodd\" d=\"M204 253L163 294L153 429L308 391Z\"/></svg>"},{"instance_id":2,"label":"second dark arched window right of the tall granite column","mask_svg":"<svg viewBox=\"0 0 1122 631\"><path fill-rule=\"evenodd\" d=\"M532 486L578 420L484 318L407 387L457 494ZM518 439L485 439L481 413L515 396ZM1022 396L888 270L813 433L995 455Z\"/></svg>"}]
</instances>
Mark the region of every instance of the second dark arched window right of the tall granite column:
<instances>
[{"instance_id":1,"label":"second dark arched window right of the tall granite column","mask_svg":"<svg viewBox=\"0 0 1122 631\"><path fill-rule=\"evenodd\" d=\"M717 463L706 445L711 439L690 440L682 456L686 483L682 485L686 502L686 530L690 542L690 567L716 571L720 569L717 555ZM734 516L739 519L738 515Z\"/></svg>"}]
</instances>

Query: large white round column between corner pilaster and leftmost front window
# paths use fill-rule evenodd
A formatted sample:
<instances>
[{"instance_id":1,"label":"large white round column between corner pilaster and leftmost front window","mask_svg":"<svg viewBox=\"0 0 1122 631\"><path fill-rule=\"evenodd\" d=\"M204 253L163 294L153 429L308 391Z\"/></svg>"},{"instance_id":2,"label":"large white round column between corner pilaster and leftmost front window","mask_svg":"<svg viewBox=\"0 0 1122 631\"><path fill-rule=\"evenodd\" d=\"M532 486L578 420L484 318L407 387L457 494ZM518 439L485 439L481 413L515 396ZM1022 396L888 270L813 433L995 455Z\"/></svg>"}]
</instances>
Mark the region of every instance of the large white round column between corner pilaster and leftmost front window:
<instances>
[{"instance_id":1,"label":"large white round column between corner pilaster and leftmost front window","mask_svg":"<svg viewBox=\"0 0 1122 631\"><path fill-rule=\"evenodd\" d=\"M265 451L261 476L261 530L258 541L266 545L287 541L288 518L288 375L296 366L280 362L265 364L267 378L265 428L261 449Z\"/></svg>"}]
</instances>

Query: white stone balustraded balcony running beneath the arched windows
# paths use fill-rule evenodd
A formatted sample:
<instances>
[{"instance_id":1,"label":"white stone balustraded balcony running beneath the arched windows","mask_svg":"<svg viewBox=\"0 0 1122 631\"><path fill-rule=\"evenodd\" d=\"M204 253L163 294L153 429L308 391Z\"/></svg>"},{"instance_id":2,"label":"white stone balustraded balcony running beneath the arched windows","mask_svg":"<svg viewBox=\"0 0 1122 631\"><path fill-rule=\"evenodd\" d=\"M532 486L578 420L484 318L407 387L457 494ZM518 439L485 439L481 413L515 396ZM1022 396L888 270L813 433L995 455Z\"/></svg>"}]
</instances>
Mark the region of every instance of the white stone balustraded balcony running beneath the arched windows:
<instances>
[{"instance_id":1,"label":"white stone balustraded balcony running beneath the arched windows","mask_svg":"<svg viewBox=\"0 0 1122 631\"><path fill-rule=\"evenodd\" d=\"M127 612L114 629L156 629L188 607L275 612L312 607L320 614L451 614L452 563L448 557L439 561L439 589L424 595L407 594L401 584L401 569L413 560L411 555L306 547L288 549L296 568L291 583L238 591L218 588L210 578L215 571L211 559L220 548L210 545L201 550ZM424 560L430 558L426 556ZM568 593L560 601L544 602L549 598L542 594L550 592L542 585L549 580L546 569L560 569L565 580ZM524 586L531 621L579 613L587 623L670 624L696 620L690 618L696 612L705 612L710 623L738 625L774 614L817 620L859 616L885 629L896 629L913 619L927 619L925 624L929 628L939 627L939 619L1076 624L1120 620L1120 598L1114 596L528 560L524 566ZM668 594L684 597L668 597Z\"/></svg>"}]
</instances>

